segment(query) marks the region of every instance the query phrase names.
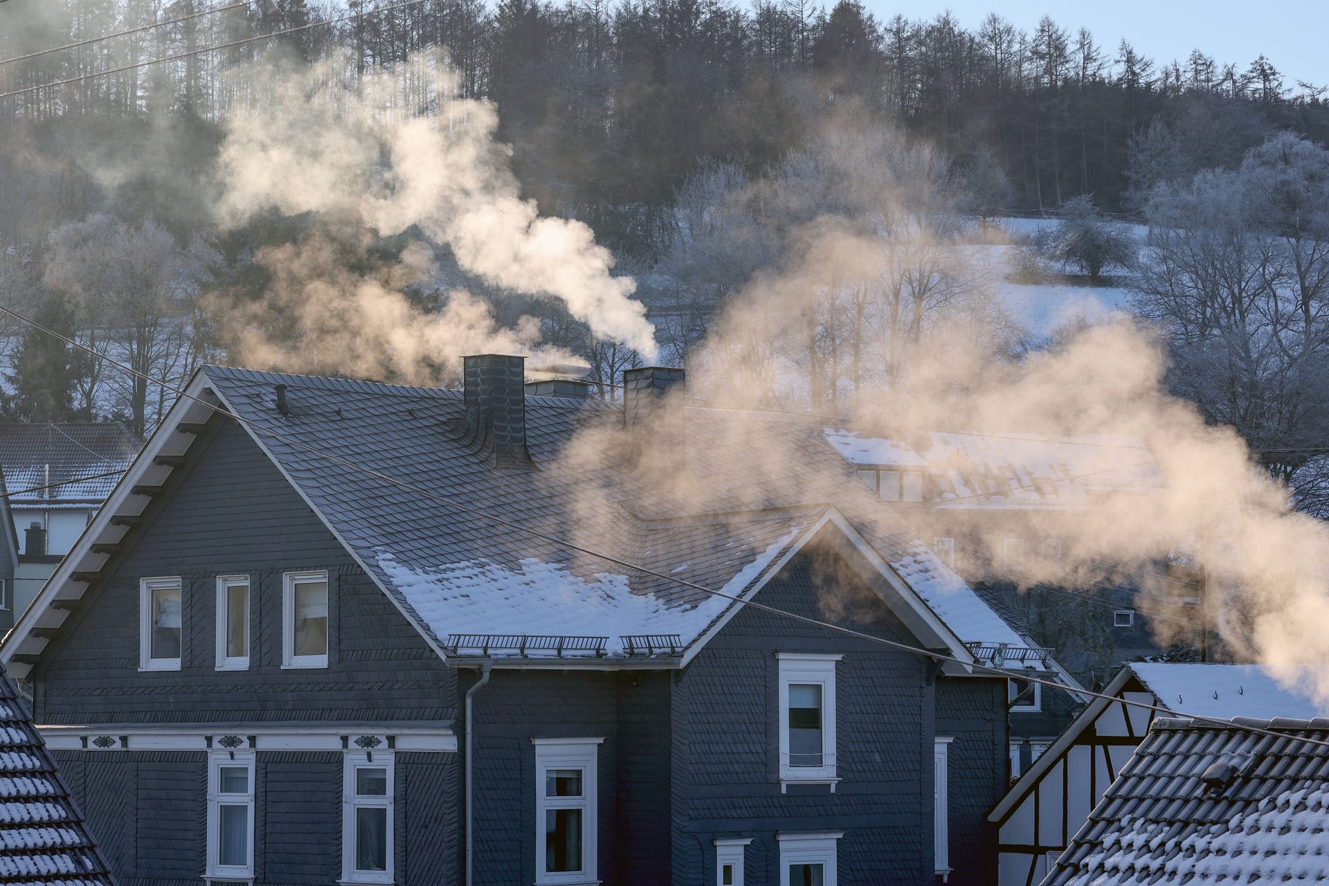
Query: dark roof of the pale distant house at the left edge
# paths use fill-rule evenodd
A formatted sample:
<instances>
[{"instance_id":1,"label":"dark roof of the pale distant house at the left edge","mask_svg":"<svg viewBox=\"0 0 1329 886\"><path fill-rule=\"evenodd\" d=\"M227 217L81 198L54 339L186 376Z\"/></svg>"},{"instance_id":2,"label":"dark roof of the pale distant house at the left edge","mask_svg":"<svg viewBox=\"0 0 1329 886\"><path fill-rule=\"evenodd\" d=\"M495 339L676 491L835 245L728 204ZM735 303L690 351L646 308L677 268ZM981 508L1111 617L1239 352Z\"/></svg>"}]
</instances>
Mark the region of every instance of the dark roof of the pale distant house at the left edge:
<instances>
[{"instance_id":1,"label":"dark roof of the pale distant house at the left edge","mask_svg":"<svg viewBox=\"0 0 1329 886\"><path fill-rule=\"evenodd\" d=\"M100 503L116 487L142 441L114 422L0 422L0 469L9 489L35 491L13 497L13 503L60 506ZM64 481L112 474L81 482ZM62 484L52 489L36 489Z\"/></svg>"}]
</instances>

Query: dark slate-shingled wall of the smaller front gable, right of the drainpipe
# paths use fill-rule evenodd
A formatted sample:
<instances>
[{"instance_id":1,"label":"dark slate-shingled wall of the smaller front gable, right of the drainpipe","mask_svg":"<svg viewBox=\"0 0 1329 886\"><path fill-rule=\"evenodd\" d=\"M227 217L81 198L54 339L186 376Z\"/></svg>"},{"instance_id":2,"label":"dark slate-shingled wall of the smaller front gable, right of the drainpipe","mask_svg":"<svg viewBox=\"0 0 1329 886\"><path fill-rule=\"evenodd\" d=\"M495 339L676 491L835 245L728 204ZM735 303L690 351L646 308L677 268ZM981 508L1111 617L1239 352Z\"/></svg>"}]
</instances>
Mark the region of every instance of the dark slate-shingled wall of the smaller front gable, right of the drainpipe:
<instances>
[{"instance_id":1,"label":"dark slate-shingled wall of the smaller front gable, right of the drainpipe","mask_svg":"<svg viewBox=\"0 0 1329 886\"><path fill-rule=\"evenodd\" d=\"M758 600L913 642L833 561L795 558ZM780 793L776 651L844 654L836 669L836 793L825 785ZM926 668L913 655L758 610L739 612L674 691L675 886L715 882L716 837L752 837L747 886L777 886L781 830L844 830L844 885L930 883L932 708Z\"/></svg>"}]
</instances>

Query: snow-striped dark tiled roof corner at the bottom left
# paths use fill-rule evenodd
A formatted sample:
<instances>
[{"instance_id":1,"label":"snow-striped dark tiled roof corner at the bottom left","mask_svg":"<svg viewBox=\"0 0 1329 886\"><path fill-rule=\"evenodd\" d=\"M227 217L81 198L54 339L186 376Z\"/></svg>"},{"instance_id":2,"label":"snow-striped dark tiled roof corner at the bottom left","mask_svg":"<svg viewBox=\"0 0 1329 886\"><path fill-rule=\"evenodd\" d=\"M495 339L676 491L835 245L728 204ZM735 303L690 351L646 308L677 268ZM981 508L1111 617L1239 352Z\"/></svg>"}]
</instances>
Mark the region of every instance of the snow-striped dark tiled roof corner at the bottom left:
<instances>
[{"instance_id":1,"label":"snow-striped dark tiled roof corner at the bottom left","mask_svg":"<svg viewBox=\"0 0 1329 886\"><path fill-rule=\"evenodd\" d=\"M0 669L0 883L113 882L13 681Z\"/></svg>"}]
</instances>

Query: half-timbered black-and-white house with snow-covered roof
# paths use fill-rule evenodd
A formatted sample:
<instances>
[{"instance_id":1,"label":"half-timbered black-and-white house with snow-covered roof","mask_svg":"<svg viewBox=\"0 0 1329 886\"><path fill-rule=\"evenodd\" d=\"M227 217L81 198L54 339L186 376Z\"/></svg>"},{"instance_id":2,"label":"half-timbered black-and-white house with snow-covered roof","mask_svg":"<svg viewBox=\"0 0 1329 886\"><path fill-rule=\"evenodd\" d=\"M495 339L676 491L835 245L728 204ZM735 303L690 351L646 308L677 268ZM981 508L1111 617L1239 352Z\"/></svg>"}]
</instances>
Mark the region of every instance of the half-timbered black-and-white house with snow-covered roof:
<instances>
[{"instance_id":1,"label":"half-timbered black-and-white house with snow-covered roof","mask_svg":"<svg viewBox=\"0 0 1329 886\"><path fill-rule=\"evenodd\" d=\"M1255 664L1128 664L1103 695L1116 700L1090 701L989 816L999 828L999 886L1043 881L1144 740L1156 712L1224 719L1320 713Z\"/></svg>"}]
</instances>

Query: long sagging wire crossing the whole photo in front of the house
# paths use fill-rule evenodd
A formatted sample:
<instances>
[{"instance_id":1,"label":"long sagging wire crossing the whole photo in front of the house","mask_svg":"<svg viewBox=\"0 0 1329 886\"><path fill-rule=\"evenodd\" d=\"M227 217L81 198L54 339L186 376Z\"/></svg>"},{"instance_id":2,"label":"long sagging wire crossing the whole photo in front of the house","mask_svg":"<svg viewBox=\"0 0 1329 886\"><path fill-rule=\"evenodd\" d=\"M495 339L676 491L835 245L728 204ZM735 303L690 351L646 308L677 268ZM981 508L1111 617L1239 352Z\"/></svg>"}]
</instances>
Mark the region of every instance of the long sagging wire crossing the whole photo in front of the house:
<instances>
[{"instance_id":1,"label":"long sagging wire crossing the whole photo in front of the house","mask_svg":"<svg viewBox=\"0 0 1329 886\"><path fill-rule=\"evenodd\" d=\"M235 413L230 412L229 409L226 409L226 408L223 408L221 405L217 405L217 404L213 404L213 402L207 402L202 397L195 397L195 396L190 395L187 391L185 391L179 385L171 384L171 383L161 380L161 379L154 379L153 376L149 376L145 372L140 372L138 369L134 369L133 367L129 367L129 365L126 365L124 363L120 363L118 360L114 360L113 357L110 357L108 355L98 353L93 348L82 344L81 341L76 341L74 339L72 339L69 336L65 336L65 335L62 335L62 333L60 333L60 332L57 332L54 329L51 329L49 327L43 325L43 324L37 323L36 320L32 320L32 319L29 319L27 316L23 316L21 313L19 313L19 312L8 308L8 307L0 306L0 312L8 313L9 316L12 316L12 317L15 317L15 319L17 319L17 320L20 320L23 323L27 323L28 325L33 327L35 329L39 329L41 332L45 332L49 336L60 339L65 344L73 345L73 347L76 347L76 348L78 348L81 351L86 351L88 353L96 356L100 360L104 360L104 361L109 363L110 365L116 367L117 369L121 369L121 371L128 372L128 373L130 373L130 375L133 375L136 377L140 377L140 379L142 379L145 381L149 381L149 383L152 383L154 385L158 385L159 388L162 388L165 391L173 391L178 396L185 397L187 400L191 400L193 402L197 402L198 405L201 405L201 406L203 406L203 408L214 412L218 416L222 416L222 417L226 417L226 418L231 418L237 424L241 424L241 425L243 425L246 428L253 429L255 433L259 433L259 434L263 434L263 436L267 436L267 437L272 437L274 440L280 440L282 442L287 444L288 446L292 446L295 449L300 449L300 450L307 452L307 453L310 453L310 454L312 454L315 457L319 457L319 458L323 458L326 461L330 461L330 462L332 462L335 465L340 465L343 468L348 468L351 470L367 474L367 476L373 477L376 480L380 480L380 481L383 481L385 484L389 484L389 485L396 486L399 489L403 489L405 491L413 493L413 494L416 494L416 495L419 495L421 498L427 498L429 501L437 502L437 503L443 505L444 507L448 507L449 510L459 511L459 513L465 514L468 517L480 517L480 518L486 519L486 521L489 521L492 523L497 523L500 526L505 526L505 527L512 529L512 530L514 530L517 533L521 533L524 535L529 535L530 538L538 538L541 541L549 542L549 543L552 543L552 545L554 545L557 547L562 547L562 549L566 549L566 550L571 550L571 551L577 551L577 553L581 553L581 554L586 554L587 557L594 557L595 559L601 559L601 561L603 561L606 563L613 563L615 566L622 566L623 569L631 570L634 573L641 573L642 575L650 575L653 578L658 578L658 579L662 579L664 582L670 582L672 584L678 584L679 587L686 587L686 588L690 588L690 590L700 591L702 594L706 594L708 596L719 596L720 599L727 599L730 602L738 603L739 606L744 606L744 607L750 607L750 608L756 608L756 610L763 611L763 612L769 612L771 615L779 615L779 616L783 616L785 619L791 619L791 620L795 620L795 622L801 622L804 624L811 624L811 626L815 626L815 627L825 628L825 630L833 631L836 634L843 634L845 636L852 636L852 638L856 638L856 639L860 639L860 640L865 640L868 643L876 643L878 646L885 646L885 647L889 647L889 648L893 648L893 650L898 650L901 652L910 652L913 655L918 655L918 656L922 656L922 658L932 659L933 662L948 662L948 663L952 663L952 664L958 664L958 665L965 667L965 668L971 668L973 671L978 671L981 673L989 673L991 676L999 676L999 677L1006 677L1006 679L1018 679L1018 680L1025 680L1025 681L1029 681L1029 683L1037 683L1039 685L1046 685L1046 687L1050 687L1050 688L1054 688L1054 689L1062 689L1063 692L1075 692L1075 693L1079 693L1079 695L1087 695L1087 696L1091 696L1091 697L1104 699L1107 701L1115 701L1115 703L1119 703L1119 704L1123 704L1123 705L1144 708L1144 709L1152 711L1155 713L1164 713L1164 715L1170 715L1170 716L1175 716L1175 717L1187 717L1187 719L1197 721L1197 723L1208 723L1208 724L1217 725L1217 727L1224 727L1224 728L1228 728L1228 729L1236 728L1236 729L1241 729L1244 732L1252 732L1252 733L1257 733L1257 735L1265 735L1265 736L1271 736L1271 737L1275 737L1275 739L1288 739L1289 737L1285 732L1275 732L1273 729L1265 729L1263 727L1249 725L1249 724L1244 724L1244 723L1239 724L1239 723L1233 723L1231 720L1224 720L1221 717L1209 717L1209 716L1201 716L1201 715L1196 715L1196 713L1185 713L1185 712L1181 712L1181 711L1175 711L1172 708L1164 708L1164 707L1148 704L1148 703L1144 703L1144 701L1132 701L1130 699L1111 696L1111 695L1106 695L1103 692L1094 692L1094 691L1090 691L1090 689L1080 689L1080 688L1070 687L1070 685L1066 685L1065 683L1058 683L1057 680L1050 680L1050 679L1046 679L1046 677L1034 676L1031 672L1027 672L1027 671L1009 671L1006 668L999 668L999 667L993 667L993 665L989 665L989 664L982 664L982 663L975 662L975 660L966 662L964 659L958 659L958 658L956 658L953 655L949 655L946 652L940 652L937 650L926 650L926 648L922 648L922 647L910 646L908 643L901 643L898 640L890 640L890 639L886 639L886 638L882 638L882 636L873 636L872 634L865 634L863 631L855 631L853 628L848 628L848 627L844 627L844 626L840 626L840 624L833 624L831 622L823 622L820 619L815 619L815 618L811 618L811 616L807 616L807 615L799 615L797 612L788 612L785 610L776 608L773 606L767 606L766 603L758 603L754 599L744 599L744 598L736 596L734 594L726 594L724 591L718 591L715 588L707 587L704 584L699 584L696 582L691 582L691 580L684 579L684 578L679 578L676 575L666 575L664 573L653 570L653 569L646 567L646 566L639 566L637 563L631 563L631 562L625 561L625 559L622 559L619 557L614 557L613 554L605 554L602 551L597 551L597 550L593 550L590 547L585 547L585 546L569 542L569 541L566 541L563 538L558 538L556 535L549 535L548 533L542 533L542 531L540 531L537 529L532 529L530 526L524 526L524 525L513 522L510 519L505 519L502 517L498 517L496 514L488 513L485 510L476 509L473 506L468 506L468 505L464 505L464 503L459 503L459 502L456 502L456 501L453 501L451 498L445 498L443 495L439 495L436 493L429 491L428 489L421 489L419 486L415 486L413 484L408 484L405 481L397 480L396 477L392 477L389 474L384 474L383 472L375 470L372 468L365 468L363 465L356 465L355 462L347 461L346 458L342 458L340 456L335 456L332 453L323 452L320 449L316 449L314 446L303 444L299 440L295 440L294 437L291 437L290 434L282 433L280 430L275 430L272 428L268 428L267 425L262 425L262 424L259 424L256 421L253 421L250 418L245 418L242 416L237 416ZM767 567L767 569L769 569L769 567ZM1313 744L1313 745L1329 748L1329 740L1304 739L1304 737L1297 737L1296 740L1297 741L1304 741L1306 744Z\"/></svg>"}]
</instances>

